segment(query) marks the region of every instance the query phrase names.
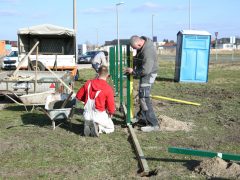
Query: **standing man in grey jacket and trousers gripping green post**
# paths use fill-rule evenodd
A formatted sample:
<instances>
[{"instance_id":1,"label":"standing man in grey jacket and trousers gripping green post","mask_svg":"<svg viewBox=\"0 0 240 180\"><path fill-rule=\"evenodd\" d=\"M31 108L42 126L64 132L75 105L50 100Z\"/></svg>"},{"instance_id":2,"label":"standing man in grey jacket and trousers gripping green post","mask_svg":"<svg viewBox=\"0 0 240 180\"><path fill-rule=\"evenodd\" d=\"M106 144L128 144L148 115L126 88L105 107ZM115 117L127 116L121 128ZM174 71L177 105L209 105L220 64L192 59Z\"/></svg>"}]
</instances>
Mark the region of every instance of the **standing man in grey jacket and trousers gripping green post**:
<instances>
[{"instance_id":1,"label":"standing man in grey jacket and trousers gripping green post","mask_svg":"<svg viewBox=\"0 0 240 180\"><path fill-rule=\"evenodd\" d=\"M140 110L137 119L146 121L146 126L141 127L142 131L157 131L159 130L159 124L150 99L151 87L158 71L157 53L152 40L144 36L132 36L130 45L137 50L135 65L133 69L127 68L125 72L140 76L138 91Z\"/></svg>"}]
</instances>

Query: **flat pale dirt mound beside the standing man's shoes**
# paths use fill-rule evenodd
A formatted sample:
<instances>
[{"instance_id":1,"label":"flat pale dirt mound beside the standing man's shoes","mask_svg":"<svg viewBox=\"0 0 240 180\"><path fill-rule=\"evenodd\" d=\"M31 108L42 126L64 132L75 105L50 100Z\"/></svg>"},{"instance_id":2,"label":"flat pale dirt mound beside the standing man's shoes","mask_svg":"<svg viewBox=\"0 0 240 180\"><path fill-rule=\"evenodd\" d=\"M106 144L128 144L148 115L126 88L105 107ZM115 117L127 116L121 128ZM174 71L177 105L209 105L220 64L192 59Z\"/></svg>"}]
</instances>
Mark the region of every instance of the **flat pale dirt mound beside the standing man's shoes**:
<instances>
[{"instance_id":1,"label":"flat pale dirt mound beside the standing man's shoes","mask_svg":"<svg viewBox=\"0 0 240 180\"><path fill-rule=\"evenodd\" d=\"M190 131L193 124L190 122L178 121L165 115L159 116L161 131Z\"/></svg>"}]
</instances>

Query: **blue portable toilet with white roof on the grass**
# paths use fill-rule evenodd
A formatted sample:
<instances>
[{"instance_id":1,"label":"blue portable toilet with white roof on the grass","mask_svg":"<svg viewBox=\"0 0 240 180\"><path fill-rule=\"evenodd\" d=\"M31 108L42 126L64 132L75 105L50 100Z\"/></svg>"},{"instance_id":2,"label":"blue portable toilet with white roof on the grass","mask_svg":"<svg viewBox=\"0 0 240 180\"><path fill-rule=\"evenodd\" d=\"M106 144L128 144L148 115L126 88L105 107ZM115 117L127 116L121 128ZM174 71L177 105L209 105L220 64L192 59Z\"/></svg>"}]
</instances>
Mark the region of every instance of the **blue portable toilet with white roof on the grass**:
<instances>
[{"instance_id":1,"label":"blue portable toilet with white roof on the grass","mask_svg":"<svg viewBox=\"0 0 240 180\"><path fill-rule=\"evenodd\" d=\"M182 30L177 33L175 81L208 81L211 34L207 31Z\"/></svg>"}]
</instances>

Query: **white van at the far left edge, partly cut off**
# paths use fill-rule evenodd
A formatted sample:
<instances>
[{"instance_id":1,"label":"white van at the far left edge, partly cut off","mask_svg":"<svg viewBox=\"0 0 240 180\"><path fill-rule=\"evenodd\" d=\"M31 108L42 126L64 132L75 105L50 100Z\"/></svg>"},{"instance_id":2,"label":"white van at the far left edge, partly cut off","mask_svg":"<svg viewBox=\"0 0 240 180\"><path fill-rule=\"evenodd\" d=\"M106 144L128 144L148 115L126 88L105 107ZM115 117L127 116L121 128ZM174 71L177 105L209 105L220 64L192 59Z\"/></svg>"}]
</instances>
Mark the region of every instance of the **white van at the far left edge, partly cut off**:
<instances>
[{"instance_id":1,"label":"white van at the far left edge, partly cut off","mask_svg":"<svg viewBox=\"0 0 240 180\"><path fill-rule=\"evenodd\" d=\"M10 54L3 58L2 69L16 69L18 63L18 48L12 47Z\"/></svg>"}]
</instances>

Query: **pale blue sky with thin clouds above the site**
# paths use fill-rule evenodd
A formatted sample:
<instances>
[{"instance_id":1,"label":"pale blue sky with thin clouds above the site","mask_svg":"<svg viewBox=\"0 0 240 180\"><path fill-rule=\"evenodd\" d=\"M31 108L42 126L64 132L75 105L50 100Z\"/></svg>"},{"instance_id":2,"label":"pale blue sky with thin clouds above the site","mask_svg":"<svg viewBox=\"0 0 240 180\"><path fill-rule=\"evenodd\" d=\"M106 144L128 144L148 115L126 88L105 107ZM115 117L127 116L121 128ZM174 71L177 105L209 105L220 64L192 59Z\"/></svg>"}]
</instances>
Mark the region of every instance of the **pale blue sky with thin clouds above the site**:
<instances>
[{"instance_id":1,"label":"pale blue sky with thin clouds above the site","mask_svg":"<svg viewBox=\"0 0 240 180\"><path fill-rule=\"evenodd\" d=\"M77 42L102 45L132 35L176 41L180 30L215 38L240 36L240 0L76 0ZM124 2L119 6L117 3ZM191 3L189 3L191 2ZM191 4L191 11L189 11ZM191 12L189 16L189 12ZM191 17L191 23L189 23ZM0 0L0 40L17 40L19 28L53 24L73 28L73 0Z\"/></svg>"}]
</instances>

